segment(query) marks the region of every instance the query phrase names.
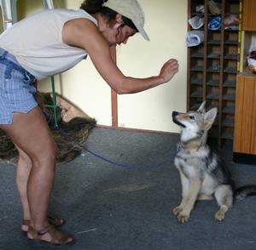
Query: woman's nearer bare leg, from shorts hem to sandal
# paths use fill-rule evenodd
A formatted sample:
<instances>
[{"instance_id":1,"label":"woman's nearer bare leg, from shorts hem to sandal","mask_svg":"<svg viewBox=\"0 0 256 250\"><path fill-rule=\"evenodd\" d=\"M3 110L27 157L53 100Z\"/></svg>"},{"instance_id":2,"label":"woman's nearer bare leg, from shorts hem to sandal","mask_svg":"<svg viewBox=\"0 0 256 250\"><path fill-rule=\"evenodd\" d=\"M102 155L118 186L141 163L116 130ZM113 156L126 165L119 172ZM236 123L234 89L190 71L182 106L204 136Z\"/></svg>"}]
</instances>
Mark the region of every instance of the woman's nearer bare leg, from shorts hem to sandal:
<instances>
[{"instance_id":1,"label":"woman's nearer bare leg, from shorts hem to sandal","mask_svg":"<svg viewBox=\"0 0 256 250\"><path fill-rule=\"evenodd\" d=\"M27 181L27 199L31 213L31 225L42 230L49 223L47 209L55 179L55 142L39 107L27 114L15 113L13 124L1 127L21 151L32 161ZM49 234L42 236L49 241ZM72 241L69 238L68 241Z\"/></svg>"}]
</instances>

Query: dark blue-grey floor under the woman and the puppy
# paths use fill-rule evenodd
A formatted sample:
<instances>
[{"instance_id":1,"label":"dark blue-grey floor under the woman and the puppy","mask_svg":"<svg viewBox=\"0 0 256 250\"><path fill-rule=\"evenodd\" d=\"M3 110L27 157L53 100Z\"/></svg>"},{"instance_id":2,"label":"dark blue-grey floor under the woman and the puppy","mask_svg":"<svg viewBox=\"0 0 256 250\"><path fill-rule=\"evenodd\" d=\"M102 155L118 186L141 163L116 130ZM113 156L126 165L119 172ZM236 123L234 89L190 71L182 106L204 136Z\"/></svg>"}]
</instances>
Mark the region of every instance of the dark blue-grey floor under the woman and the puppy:
<instances>
[{"instance_id":1,"label":"dark blue-grey floor under the woman and the puppy","mask_svg":"<svg viewBox=\"0 0 256 250\"><path fill-rule=\"evenodd\" d=\"M215 201L198 202L187 224L172 208L180 201L173 164L178 137L92 130L86 147L113 163L84 152L57 168L49 214L67 220L62 229L77 242L66 249L176 250L255 249L256 197L235 202L223 222L214 219ZM230 145L221 151L237 185L256 184L256 166L232 162ZM128 165L128 166L127 166ZM0 164L0 249L52 249L20 233L21 207L15 167Z\"/></svg>"}]
</instances>

